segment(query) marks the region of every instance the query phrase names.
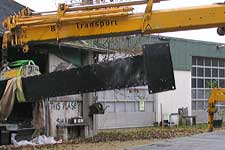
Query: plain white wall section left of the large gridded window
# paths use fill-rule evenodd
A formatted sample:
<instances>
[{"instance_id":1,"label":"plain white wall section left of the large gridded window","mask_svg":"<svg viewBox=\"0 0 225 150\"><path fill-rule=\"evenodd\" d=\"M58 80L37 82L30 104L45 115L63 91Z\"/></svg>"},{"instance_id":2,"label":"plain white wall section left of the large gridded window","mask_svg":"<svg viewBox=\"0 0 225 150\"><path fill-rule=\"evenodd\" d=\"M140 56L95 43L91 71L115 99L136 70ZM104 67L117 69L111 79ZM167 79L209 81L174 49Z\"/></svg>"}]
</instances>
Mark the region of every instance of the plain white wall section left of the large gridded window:
<instances>
[{"instance_id":1,"label":"plain white wall section left of the large gridded window","mask_svg":"<svg viewBox=\"0 0 225 150\"><path fill-rule=\"evenodd\" d=\"M170 113L177 113L178 108L188 107L191 115L191 72L174 71L176 90L157 94L156 121L161 121L160 104L162 104L163 119L168 120Z\"/></svg>"}]
</instances>

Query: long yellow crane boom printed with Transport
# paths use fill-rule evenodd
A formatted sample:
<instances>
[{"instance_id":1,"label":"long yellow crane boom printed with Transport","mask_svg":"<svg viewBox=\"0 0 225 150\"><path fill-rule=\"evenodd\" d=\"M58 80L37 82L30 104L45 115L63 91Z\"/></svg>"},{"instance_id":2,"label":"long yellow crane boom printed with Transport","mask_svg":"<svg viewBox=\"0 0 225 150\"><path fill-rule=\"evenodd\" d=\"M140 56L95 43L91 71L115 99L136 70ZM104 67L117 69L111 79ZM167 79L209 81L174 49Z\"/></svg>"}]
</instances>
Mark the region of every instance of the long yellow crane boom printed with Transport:
<instances>
[{"instance_id":1,"label":"long yellow crane boom printed with Transport","mask_svg":"<svg viewBox=\"0 0 225 150\"><path fill-rule=\"evenodd\" d=\"M78 7L59 4L57 11L43 13L26 8L3 21L7 31L2 48L21 46L27 52L30 42L225 26L225 4L153 11L155 2L160 0ZM144 3L147 3L144 13L133 13L131 5Z\"/></svg>"}]
</instances>

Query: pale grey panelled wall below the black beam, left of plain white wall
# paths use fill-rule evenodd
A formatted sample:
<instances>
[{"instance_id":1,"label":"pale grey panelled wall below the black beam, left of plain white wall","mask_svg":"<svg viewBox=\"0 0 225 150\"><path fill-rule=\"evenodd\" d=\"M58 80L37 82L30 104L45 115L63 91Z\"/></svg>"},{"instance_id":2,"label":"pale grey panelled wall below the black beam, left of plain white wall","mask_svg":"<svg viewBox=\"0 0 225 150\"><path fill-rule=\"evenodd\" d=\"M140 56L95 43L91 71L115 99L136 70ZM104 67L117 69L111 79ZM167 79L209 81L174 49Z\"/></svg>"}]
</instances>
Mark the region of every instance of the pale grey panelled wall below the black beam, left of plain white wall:
<instances>
[{"instance_id":1,"label":"pale grey panelled wall below the black beam, left of plain white wall","mask_svg":"<svg viewBox=\"0 0 225 150\"><path fill-rule=\"evenodd\" d=\"M107 107L105 114L96 115L98 129L150 126L155 122L156 95L147 87L97 92L98 102Z\"/></svg>"}]
</instances>

